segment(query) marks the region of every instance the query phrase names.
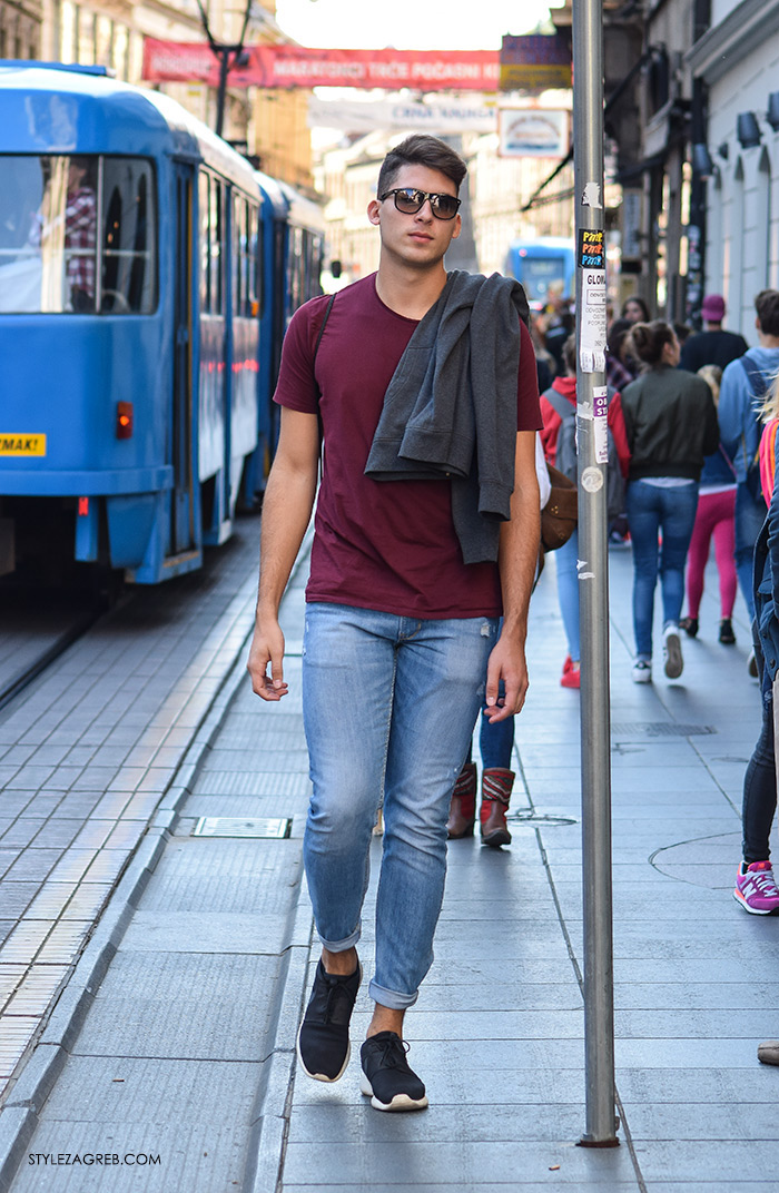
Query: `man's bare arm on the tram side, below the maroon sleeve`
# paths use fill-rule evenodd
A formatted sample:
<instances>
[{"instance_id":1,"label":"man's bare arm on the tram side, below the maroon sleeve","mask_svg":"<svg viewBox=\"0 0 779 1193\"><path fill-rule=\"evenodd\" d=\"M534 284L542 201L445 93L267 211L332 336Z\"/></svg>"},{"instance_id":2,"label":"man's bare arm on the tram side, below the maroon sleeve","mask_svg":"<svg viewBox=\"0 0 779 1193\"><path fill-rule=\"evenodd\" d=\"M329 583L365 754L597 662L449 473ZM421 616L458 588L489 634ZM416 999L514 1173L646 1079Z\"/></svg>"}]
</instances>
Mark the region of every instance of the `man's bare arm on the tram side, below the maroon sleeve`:
<instances>
[{"instance_id":1,"label":"man's bare arm on the tram side, below the maroon sleeve","mask_svg":"<svg viewBox=\"0 0 779 1193\"><path fill-rule=\"evenodd\" d=\"M262 499L260 588L247 663L252 690L264 700L280 700L288 691L279 605L311 518L319 452L316 415L283 407L279 443Z\"/></svg>"}]
</instances>

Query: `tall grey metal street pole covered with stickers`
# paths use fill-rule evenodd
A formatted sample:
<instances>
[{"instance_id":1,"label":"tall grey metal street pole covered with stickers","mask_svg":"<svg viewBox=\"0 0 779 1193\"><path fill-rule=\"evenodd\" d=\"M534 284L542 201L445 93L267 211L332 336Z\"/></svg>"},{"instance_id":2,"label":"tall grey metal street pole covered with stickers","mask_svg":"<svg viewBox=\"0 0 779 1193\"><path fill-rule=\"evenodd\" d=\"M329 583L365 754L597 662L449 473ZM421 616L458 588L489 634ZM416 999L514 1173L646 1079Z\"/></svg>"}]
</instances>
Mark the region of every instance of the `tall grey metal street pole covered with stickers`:
<instances>
[{"instance_id":1,"label":"tall grey metal street pole covered with stickers","mask_svg":"<svg viewBox=\"0 0 779 1193\"><path fill-rule=\"evenodd\" d=\"M617 1146L611 876L602 0L573 0L586 1146Z\"/></svg>"}]
</instances>

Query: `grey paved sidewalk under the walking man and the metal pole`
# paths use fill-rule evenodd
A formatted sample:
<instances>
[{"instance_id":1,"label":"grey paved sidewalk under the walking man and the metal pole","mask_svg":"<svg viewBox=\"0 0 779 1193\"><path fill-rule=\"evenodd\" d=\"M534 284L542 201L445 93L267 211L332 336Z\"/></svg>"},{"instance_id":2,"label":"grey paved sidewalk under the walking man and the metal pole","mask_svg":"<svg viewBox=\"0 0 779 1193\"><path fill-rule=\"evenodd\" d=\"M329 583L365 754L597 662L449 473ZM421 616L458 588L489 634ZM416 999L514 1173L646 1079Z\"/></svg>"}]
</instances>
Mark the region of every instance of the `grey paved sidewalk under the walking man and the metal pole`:
<instances>
[{"instance_id":1,"label":"grey paved sidewalk under the walking man and the metal pole","mask_svg":"<svg viewBox=\"0 0 779 1193\"><path fill-rule=\"evenodd\" d=\"M301 576L284 606L291 694L262 705L236 673L235 700L80 1033L51 1028L68 1059L24 1145L13 1193L778 1187L779 1070L760 1067L755 1049L779 1036L779 920L750 917L731 898L741 784L760 719L748 629L742 616L738 645L717 643L710 576L681 680L667 681L656 665L655 684L637 687L627 550L612 552L611 576L622 1145L576 1146L585 1130L580 697L558 684L565 650L551 567L531 611L514 843L495 852L452 842L435 963L407 1019L429 1109L371 1109L357 1057L335 1086L297 1070L295 1032L316 959L310 910L298 900L308 795ZM289 840L191 836L199 816L290 815ZM376 872L378 840L373 853ZM370 907L365 926L370 972ZM356 1043L367 1015L363 990ZM26 1162L30 1152L97 1151L161 1162Z\"/></svg>"}]
</instances>

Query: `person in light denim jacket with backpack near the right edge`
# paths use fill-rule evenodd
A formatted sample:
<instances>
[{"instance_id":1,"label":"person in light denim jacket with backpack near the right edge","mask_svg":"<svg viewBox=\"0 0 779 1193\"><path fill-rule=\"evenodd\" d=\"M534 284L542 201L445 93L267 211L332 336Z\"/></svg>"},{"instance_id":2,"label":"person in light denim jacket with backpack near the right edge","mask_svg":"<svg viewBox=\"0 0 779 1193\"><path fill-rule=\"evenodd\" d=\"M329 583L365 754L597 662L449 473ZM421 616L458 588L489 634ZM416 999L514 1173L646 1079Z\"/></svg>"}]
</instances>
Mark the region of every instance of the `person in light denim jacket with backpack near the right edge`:
<instances>
[{"instance_id":1,"label":"person in light denim jacket with backpack near the right edge","mask_svg":"<svg viewBox=\"0 0 779 1193\"><path fill-rule=\"evenodd\" d=\"M760 406L773 377L779 372L779 290L761 290L755 297L755 327L759 346L731 360L719 387L719 431L725 451L736 470L736 573L738 587L755 616L752 564L755 542L766 518L760 492ZM750 670L754 661L750 656Z\"/></svg>"}]
</instances>

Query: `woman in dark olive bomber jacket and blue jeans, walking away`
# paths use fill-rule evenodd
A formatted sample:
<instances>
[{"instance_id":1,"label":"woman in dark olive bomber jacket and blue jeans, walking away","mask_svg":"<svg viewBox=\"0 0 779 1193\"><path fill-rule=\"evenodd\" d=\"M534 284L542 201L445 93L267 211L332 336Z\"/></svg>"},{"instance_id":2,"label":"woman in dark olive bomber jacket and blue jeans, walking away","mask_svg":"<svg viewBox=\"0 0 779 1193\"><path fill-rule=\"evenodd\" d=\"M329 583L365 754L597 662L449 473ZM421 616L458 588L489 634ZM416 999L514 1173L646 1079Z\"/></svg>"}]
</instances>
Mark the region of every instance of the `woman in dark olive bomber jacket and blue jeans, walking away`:
<instances>
[{"instance_id":1,"label":"woman in dark olive bomber jacket and blue jeans, walking away","mask_svg":"<svg viewBox=\"0 0 779 1193\"><path fill-rule=\"evenodd\" d=\"M685 563L704 456L717 450L719 427L706 382L678 367L680 348L673 327L656 319L651 323L636 323L631 335L636 356L648 365L622 395L631 455L626 506L633 545L632 678L636 684L651 684L659 571L666 675L678 679L684 669L679 617L685 595Z\"/></svg>"}]
</instances>

